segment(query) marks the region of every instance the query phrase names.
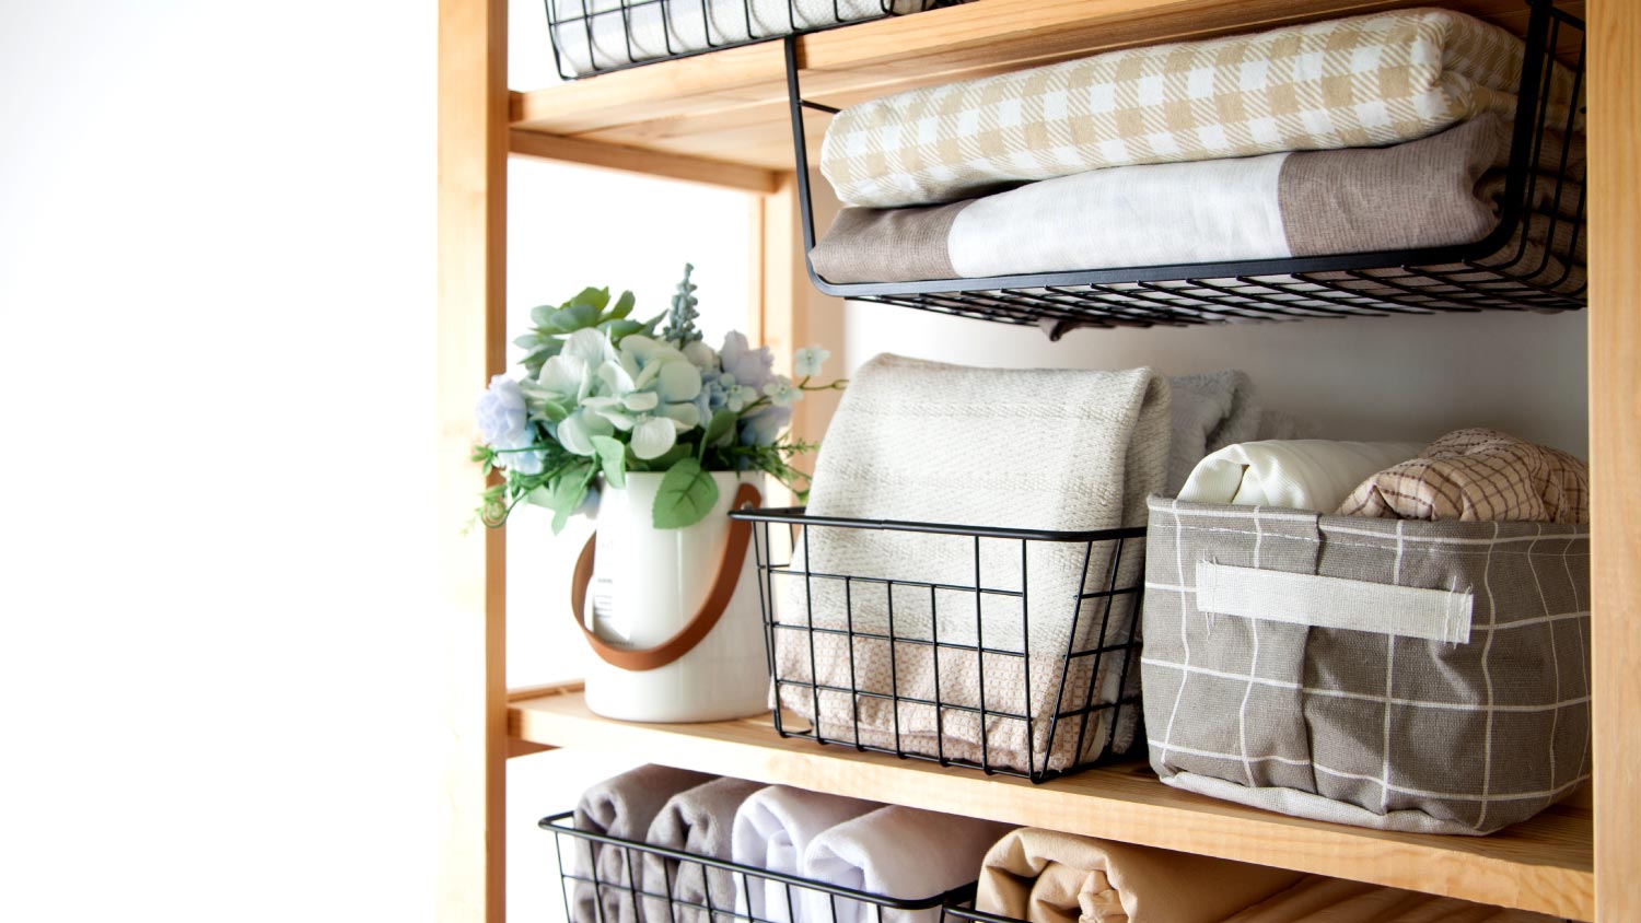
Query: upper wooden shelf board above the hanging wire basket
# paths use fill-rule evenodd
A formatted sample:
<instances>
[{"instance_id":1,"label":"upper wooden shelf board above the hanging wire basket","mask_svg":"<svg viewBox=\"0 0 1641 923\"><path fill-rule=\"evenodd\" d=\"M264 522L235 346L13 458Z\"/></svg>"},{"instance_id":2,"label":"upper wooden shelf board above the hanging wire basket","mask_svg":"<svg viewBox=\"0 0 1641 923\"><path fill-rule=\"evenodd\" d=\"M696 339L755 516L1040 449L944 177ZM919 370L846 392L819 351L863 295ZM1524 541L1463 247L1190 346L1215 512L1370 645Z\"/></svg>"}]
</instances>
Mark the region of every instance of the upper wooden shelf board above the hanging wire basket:
<instances>
[{"instance_id":1,"label":"upper wooden shelf board above the hanging wire basket","mask_svg":"<svg viewBox=\"0 0 1641 923\"><path fill-rule=\"evenodd\" d=\"M807 98L848 107L917 87L1144 44L1441 5L1523 34L1523 0L975 0L802 36ZM1584 3L1561 3L1582 15ZM817 146L824 116L814 115ZM752 190L794 164L781 43L729 48L514 93L512 148ZM637 151L632 151L637 149ZM704 159L711 167L645 159ZM737 169L738 167L738 169ZM697 175L683 175L696 172Z\"/></svg>"}]
</instances>

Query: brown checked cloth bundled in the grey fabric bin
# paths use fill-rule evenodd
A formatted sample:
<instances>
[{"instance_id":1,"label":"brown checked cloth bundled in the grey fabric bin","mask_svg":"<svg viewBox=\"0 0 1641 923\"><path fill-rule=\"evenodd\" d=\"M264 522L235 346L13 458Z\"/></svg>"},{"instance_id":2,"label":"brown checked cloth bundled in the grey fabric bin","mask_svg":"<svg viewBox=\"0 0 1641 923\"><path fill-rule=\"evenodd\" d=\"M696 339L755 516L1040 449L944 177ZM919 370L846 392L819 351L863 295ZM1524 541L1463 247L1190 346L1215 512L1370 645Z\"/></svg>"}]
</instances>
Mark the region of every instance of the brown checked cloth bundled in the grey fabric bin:
<instances>
[{"instance_id":1,"label":"brown checked cloth bundled in the grey fabric bin","mask_svg":"<svg viewBox=\"0 0 1641 923\"><path fill-rule=\"evenodd\" d=\"M1590 469L1508 433L1457 430L1364 480L1337 515L1582 525L1590 521Z\"/></svg>"}]
</instances>

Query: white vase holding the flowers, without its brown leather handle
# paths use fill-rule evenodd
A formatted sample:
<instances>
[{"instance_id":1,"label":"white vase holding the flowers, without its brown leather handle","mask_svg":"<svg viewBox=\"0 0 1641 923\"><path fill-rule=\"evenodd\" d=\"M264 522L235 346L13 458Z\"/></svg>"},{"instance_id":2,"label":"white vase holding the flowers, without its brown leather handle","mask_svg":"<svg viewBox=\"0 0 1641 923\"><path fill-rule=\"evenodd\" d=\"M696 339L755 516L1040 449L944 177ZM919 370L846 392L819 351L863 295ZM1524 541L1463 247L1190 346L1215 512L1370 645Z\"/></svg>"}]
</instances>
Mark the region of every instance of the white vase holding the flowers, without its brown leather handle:
<instances>
[{"instance_id":1,"label":"white vase holding the flowers, without its brown leather handle","mask_svg":"<svg viewBox=\"0 0 1641 923\"><path fill-rule=\"evenodd\" d=\"M599 500L596 559L583 625L615 649L673 639L712 592L742 484L761 492L761 474L712 472L719 500L707 518L681 530L651 525L661 474L627 474L625 489ZM689 652L655 669L622 669L592 657L587 708L627 721L722 721L768 708L770 671L748 543L735 592L717 625Z\"/></svg>"}]
</instances>

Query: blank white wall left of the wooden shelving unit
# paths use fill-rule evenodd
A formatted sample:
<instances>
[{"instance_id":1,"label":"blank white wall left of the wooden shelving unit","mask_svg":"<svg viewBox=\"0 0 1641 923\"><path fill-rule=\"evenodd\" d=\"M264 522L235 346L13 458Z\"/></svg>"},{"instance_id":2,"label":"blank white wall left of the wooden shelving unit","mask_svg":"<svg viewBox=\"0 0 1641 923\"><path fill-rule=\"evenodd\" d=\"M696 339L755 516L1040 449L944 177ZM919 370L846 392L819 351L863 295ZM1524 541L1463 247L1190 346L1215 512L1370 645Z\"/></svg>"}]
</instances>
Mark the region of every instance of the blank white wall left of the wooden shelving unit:
<instances>
[{"instance_id":1,"label":"blank white wall left of the wooden shelving unit","mask_svg":"<svg viewBox=\"0 0 1641 923\"><path fill-rule=\"evenodd\" d=\"M430 918L432 0L0 0L0 920Z\"/></svg>"}]
</instances>

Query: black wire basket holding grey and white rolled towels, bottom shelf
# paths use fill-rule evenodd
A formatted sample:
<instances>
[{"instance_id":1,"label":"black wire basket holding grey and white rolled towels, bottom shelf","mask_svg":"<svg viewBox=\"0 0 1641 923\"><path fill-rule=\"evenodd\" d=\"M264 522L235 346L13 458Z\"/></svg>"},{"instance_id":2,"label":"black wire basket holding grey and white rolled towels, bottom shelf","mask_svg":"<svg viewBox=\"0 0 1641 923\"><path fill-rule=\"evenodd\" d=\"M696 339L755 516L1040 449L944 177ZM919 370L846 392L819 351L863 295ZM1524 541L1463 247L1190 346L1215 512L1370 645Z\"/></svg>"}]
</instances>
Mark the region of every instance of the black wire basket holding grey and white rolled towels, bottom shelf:
<instances>
[{"instance_id":1,"label":"black wire basket holding grey and white rolled towels, bottom shelf","mask_svg":"<svg viewBox=\"0 0 1641 923\"><path fill-rule=\"evenodd\" d=\"M1008 921L971 910L973 884L917 900L883 897L576 830L573 818L573 812L565 812L540 821L558 841L558 874L569 923L939 923L948 913L983 923ZM599 874L604 849L619 851L615 862L602 862L606 869L619 869L615 880L602 880ZM651 887L651 875L637 874L647 861L650 869L661 872L660 887ZM766 884L784 887L766 890ZM757 912L753 893L771 892L784 895L784 902L761 902L763 910ZM825 910L816 913L819 907Z\"/></svg>"}]
</instances>

